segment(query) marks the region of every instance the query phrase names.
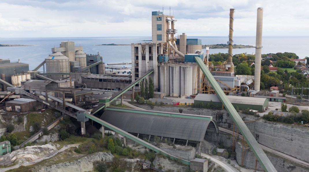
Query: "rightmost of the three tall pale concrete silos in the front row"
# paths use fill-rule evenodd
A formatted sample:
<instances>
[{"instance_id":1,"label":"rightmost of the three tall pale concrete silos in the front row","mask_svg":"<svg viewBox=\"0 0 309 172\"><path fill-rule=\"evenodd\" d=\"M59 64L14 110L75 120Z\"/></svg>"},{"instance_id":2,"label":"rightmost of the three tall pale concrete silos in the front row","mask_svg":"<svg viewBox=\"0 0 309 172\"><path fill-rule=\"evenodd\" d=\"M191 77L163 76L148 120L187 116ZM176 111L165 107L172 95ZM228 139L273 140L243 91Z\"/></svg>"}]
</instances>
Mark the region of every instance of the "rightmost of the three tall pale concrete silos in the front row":
<instances>
[{"instance_id":1,"label":"rightmost of the three tall pale concrete silos in the front row","mask_svg":"<svg viewBox=\"0 0 309 172\"><path fill-rule=\"evenodd\" d=\"M194 81L195 82L195 81ZM192 66L180 66L180 96L192 94Z\"/></svg>"}]
</instances>

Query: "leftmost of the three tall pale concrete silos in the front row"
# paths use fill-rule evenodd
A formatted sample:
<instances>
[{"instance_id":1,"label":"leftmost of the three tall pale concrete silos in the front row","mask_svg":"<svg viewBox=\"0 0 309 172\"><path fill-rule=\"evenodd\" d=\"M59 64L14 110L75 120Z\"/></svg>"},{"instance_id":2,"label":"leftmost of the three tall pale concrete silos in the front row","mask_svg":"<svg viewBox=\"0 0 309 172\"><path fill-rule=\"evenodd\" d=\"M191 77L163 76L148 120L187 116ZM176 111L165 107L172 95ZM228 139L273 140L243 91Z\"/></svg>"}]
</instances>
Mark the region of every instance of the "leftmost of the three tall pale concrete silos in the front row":
<instances>
[{"instance_id":1,"label":"leftmost of the three tall pale concrete silos in the front row","mask_svg":"<svg viewBox=\"0 0 309 172\"><path fill-rule=\"evenodd\" d=\"M160 66L160 92L170 95L170 66Z\"/></svg>"}]
</instances>

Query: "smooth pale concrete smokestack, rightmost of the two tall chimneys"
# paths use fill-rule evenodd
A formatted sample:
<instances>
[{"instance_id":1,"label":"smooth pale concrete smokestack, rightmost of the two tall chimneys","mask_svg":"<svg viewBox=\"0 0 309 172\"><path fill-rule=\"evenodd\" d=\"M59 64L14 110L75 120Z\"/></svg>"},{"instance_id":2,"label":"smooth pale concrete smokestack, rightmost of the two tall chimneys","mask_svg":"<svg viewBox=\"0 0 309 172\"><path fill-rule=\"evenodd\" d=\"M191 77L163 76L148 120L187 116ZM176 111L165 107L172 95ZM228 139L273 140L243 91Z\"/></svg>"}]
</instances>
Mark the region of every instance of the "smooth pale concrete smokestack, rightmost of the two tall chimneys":
<instances>
[{"instance_id":1,"label":"smooth pale concrete smokestack, rightmost of the two tall chimneys","mask_svg":"<svg viewBox=\"0 0 309 172\"><path fill-rule=\"evenodd\" d=\"M262 29L263 29L263 8L257 8L256 17L256 46L255 46L255 69L254 69L254 90L260 90L261 80L261 56L262 56Z\"/></svg>"}]
</instances>

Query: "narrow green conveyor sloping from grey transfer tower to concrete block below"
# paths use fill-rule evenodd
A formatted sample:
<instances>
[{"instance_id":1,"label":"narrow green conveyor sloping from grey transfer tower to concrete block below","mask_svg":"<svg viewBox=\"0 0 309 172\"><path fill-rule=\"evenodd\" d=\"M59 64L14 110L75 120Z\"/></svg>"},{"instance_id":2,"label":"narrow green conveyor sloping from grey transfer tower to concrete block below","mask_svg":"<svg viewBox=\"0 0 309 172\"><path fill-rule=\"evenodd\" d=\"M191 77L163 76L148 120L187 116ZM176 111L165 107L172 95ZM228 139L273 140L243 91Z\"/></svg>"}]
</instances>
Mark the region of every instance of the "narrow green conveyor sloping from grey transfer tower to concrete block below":
<instances>
[{"instance_id":1,"label":"narrow green conveyor sloping from grey transfer tower to concrete block below","mask_svg":"<svg viewBox=\"0 0 309 172\"><path fill-rule=\"evenodd\" d=\"M147 148L149 148L149 149L151 149L151 150L153 150L153 151L155 151L155 152L158 152L158 153L160 153L160 154L163 154L164 156L169 157L169 158L171 158L171 159L173 159L173 160L180 161L180 162L183 163L183 164L190 165L190 162L189 162L189 161L187 161L187 160L185 160L185 159L182 159L182 158L179 158L179 157L176 157L176 156L174 156L174 155L172 155L172 154L169 154L169 153L167 153L166 151L164 151L164 150L162 150L162 149L160 149L160 148L158 148L158 147L156 147L156 146L154 146L154 145L151 145L150 143L145 142L144 140L139 139L139 138L133 136L132 134L129 134L128 132L126 132L126 131L124 131L124 130L121 130L121 129L119 129L119 128L113 126L112 124L109 124L109 123L103 121L102 119L99 119L99 118L97 118L97 117L95 117L95 116L93 116L93 115L90 115L90 114L85 114L85 116L86 116L87 118L89 118L89 119L95 121L95 122L98 122L99 124L101 124L101 125L103 125L103 126L105 126L105 127L108 127L109 129L111 129L111 130L113 130L113 131L115 131L115 132L117 132L117 133L119 133L119 134L121 134L121 135L123 135L123 136L125 136L125 137L127 137L127 138L129 138L129 139L131 139L131 140L133 140L133 141L135 141L135 142L141 144L141 145L143 145L143 146L146 146Z\"/></svg>"}]
</instances>

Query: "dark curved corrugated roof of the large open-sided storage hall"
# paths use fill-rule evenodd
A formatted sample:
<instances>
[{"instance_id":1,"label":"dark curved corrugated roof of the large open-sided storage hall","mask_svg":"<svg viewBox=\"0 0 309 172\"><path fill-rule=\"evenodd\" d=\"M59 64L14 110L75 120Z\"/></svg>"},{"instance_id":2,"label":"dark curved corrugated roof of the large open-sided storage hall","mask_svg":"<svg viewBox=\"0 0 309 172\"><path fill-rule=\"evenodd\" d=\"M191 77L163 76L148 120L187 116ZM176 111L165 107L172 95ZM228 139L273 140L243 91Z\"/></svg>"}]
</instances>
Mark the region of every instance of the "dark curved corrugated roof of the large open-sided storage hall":
<instances>
[{"instance_id":1,"label":"dark curved corrugated roof of the large open-sided storage hall","mask_svg":"<svg viewBox=\"0 0 309 172\"><path fill-rule=\"evenodd\" d=\"M129 133L203 141L208 120L106 110L101 119Z\"/></svg>"}]
</instances>

